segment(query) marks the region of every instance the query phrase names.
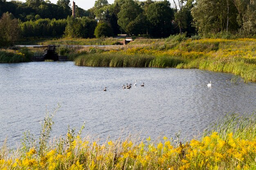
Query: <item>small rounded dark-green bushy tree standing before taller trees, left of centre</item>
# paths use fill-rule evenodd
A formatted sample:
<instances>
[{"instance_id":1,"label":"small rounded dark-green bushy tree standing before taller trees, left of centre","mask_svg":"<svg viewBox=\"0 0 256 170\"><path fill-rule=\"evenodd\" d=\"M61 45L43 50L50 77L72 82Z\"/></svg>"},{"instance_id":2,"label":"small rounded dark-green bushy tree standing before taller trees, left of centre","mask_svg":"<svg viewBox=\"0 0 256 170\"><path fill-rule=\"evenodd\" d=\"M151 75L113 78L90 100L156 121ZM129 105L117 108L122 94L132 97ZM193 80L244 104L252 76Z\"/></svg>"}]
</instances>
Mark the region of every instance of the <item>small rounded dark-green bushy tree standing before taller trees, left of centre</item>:
<instances>
[{"instance_id":1,"label":"small rounded dark-green bushy tree standing before taller trees, left of centre","mask_svg":"<svg viewBox=\"0 0 256 170\"><path fill-rule=\"evenodd\" d=\"M112 37L113 31L111 27L105 22L99 22L94 31L96 38Z\"/></svg>"}]
</instances>

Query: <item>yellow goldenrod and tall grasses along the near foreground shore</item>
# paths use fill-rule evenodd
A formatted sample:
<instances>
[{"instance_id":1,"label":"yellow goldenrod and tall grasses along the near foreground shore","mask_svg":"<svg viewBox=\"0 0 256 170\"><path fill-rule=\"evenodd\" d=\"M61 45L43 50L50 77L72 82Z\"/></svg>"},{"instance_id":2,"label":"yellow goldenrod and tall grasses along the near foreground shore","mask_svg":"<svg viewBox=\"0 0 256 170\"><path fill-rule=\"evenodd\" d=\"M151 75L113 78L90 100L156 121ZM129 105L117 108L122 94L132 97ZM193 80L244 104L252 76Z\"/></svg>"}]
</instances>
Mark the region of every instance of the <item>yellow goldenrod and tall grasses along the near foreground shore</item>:
<instances>
[{"instance_id":1,"label":"yellow goldenrod and tall grasses along the near foreground shore","mask_svg":"<svg viewBox=\"0 0 256 170\"><path fill-rule=\"evenodd\" d=\"M54 112L55 114L56 112ZM81 138L82 128L50 139L54 114L47 113L38 138L0 149L1 170L250 170L256 168L256 116L227 114L202 137L157 141L127 137L105 142Z\"/></svg>"}]
</instances>

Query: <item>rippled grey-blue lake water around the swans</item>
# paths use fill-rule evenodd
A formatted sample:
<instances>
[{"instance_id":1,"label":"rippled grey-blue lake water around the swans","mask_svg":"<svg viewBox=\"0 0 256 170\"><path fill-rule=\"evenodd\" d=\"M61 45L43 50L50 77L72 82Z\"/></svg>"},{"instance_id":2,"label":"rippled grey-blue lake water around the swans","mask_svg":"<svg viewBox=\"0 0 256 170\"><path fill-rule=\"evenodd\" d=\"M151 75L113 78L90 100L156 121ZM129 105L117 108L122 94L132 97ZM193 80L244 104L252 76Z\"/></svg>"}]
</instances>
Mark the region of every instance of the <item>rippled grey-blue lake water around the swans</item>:
<instances>
[{"instance_id":1,"label":"rippled grey-blue lake water around the swans","mask_svg":"<svg viewBox=\"0 0 256 170\"><path fill-rule=\"evenodd\" d=\"M198 69L108 68L73 62L0 64L0 146L16 146L22 132L38 135L46 109L53 136L67 127L103 139L126 133L141 137L192 137L227 112L256 110L256 83L226 81L233 75ZM123 89L123 84L145 83ZM207 84L211 81L212 87ZM107 91L103 91L104 87Z\"/></svg>"}]
</instances>

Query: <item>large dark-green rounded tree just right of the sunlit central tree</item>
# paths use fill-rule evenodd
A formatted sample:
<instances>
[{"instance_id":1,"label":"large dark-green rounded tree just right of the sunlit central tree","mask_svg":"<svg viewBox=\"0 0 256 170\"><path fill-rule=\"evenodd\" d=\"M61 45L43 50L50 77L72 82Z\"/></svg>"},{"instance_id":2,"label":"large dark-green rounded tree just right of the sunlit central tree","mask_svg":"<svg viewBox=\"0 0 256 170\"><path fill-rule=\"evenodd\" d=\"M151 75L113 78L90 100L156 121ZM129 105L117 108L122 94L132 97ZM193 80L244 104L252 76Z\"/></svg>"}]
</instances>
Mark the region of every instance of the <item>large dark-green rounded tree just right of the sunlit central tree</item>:
<instances>
[{"instance_id":1,"label":"large dark-green rounded tree just right of the sunlit central tree","mask_svg":"<svg viewBox=\"0 0 256 170\"><path fill-rule=\"evenodd\" d=\"M151 3L146 11L149 33L153 37L167 37L172 33L173 9L167 0Z\"/></svg>"}]
</instances>

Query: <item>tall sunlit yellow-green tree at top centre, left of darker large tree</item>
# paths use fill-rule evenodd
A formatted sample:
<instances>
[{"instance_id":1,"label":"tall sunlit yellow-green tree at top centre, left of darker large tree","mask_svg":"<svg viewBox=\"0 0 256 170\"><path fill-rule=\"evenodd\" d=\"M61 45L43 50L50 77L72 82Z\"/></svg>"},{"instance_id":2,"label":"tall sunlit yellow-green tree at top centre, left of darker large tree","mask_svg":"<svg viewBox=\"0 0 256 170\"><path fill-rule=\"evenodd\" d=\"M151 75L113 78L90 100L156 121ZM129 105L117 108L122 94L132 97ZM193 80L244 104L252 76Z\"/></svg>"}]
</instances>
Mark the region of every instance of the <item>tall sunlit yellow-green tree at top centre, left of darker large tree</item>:
<instances>
[{"instance_id":1,"label":"tall sunlit yellow-green tree at top centre, left of darker large tree","mask_svg":"<svg viewBox=\"0 0 256 170\"><path fill-rule=\"evenodd\" d=\"M123 31L131 34L127 26L130 22L134 21L140 13L142 13L142 9L137 2L125 0L124 4L121 6L120 12L117 14L117 23Z\"/></svg>"}]
</instances>

